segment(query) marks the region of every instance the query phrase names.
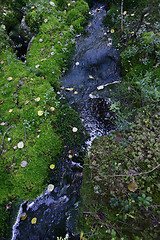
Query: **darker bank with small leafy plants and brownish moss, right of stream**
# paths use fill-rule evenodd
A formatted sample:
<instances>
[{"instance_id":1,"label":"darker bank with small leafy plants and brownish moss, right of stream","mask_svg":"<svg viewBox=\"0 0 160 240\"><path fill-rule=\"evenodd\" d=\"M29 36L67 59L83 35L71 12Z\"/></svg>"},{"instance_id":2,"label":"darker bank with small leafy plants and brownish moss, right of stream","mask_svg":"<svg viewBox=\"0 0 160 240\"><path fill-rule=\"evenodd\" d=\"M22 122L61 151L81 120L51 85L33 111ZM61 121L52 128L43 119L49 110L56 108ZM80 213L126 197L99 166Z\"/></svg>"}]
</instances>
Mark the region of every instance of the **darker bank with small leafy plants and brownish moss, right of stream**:
<instances>
[{"instance_id":1,"label":"darker bank with small leafy plants and brownish moss, right of stream","mask_svg":"<svg viewBox=\"0 0 160 240\"><path fill-rule=\"evenodd\" d=\"M159 239L160 35L158 1L111 1L104 23L121 53L111 93L117 130L95 139L84 164L80 229L88 239ZM116 5L114 3L117 3ZM135 5L136 4L136 5Z\"/></svg>"}]
</instances>

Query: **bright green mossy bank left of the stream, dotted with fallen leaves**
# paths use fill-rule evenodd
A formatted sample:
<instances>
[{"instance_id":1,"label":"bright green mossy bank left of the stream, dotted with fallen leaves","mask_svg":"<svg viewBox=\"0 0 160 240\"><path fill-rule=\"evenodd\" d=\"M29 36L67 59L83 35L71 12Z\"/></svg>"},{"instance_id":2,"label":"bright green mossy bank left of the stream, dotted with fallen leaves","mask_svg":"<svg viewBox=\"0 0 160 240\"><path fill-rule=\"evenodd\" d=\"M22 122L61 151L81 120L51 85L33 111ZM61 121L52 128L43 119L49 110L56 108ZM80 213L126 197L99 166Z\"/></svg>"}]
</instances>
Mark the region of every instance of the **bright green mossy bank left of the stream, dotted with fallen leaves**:
<instances>
[{"instance_id":1,"label":"bright green mossy bank left of the stream, dotted with fallen leaves","mask_svg":"<svg viewBox=\"0 0 160 240\"><path fill-rule=\"evenodd\" d=\"M59 89L88 5L83 0L26 0L2 1L0 7L0 238L8 239L16 200L40 195L50 164L56 169L60 156L75 146L80 150L84 141L78 114ZM20 24L20 12L35 36L25 63L9 35Z\"/></svg>"}]
</instances>

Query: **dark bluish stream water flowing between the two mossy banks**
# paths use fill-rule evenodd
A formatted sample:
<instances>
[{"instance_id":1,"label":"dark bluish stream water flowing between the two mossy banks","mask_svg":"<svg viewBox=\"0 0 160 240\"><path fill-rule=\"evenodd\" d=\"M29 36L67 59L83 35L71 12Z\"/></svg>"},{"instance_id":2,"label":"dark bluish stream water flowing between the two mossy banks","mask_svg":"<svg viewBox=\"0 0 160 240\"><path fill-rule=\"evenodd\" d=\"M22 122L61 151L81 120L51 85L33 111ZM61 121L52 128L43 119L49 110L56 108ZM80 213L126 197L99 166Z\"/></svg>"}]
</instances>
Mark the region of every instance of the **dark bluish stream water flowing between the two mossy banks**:
<instances>
[{"instance_id":1,"label":"dark bluish stream water flowing between the two mossy banks","mask_svg":"<svg viewBox=\"0 0 160 240\"><path fill-rule=\"evenodd\" d=\"M120 80L118 54L112 48L111 34L102 24L104 15L103 6L91 10L91 19L84 33L76 36L74 60L61 80L59 93L79 113L91 137L86 143L88 146L95 137L106 135L113 129L106 88ZM66 234L69 239L78 239L71 233L76 231L82 170L79 163L63 157L56 175L50 179L54 190L46 189L39 198L20 206L12 240L51 240ZM23 212L27 218L20 221ZM37 223L31 224L34 217Z\"/></svg>"}]
</instances>

